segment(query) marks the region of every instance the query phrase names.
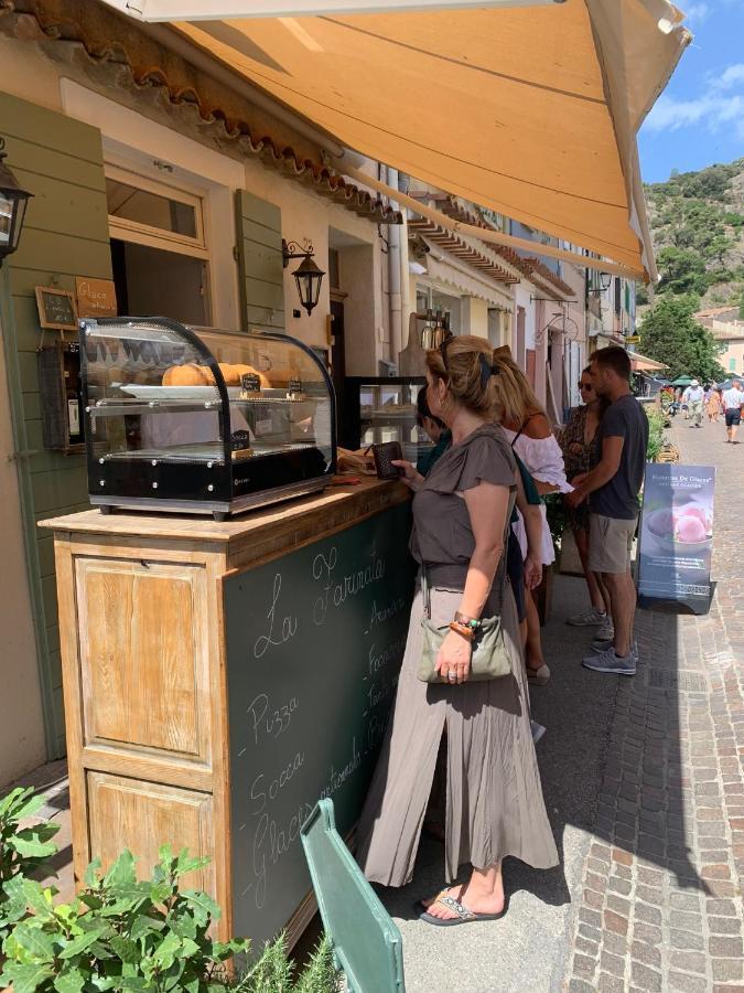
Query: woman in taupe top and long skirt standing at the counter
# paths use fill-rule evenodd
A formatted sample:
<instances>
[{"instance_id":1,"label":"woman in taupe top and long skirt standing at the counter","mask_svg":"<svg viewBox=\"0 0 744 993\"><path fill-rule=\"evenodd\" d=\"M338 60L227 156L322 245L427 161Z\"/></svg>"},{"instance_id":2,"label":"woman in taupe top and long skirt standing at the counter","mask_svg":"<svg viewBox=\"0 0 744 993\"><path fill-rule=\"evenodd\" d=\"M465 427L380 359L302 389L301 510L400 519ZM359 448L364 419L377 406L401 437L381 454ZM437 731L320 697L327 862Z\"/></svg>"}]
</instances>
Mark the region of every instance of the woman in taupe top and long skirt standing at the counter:
<instances>
[{"instance_id":1,"label":"woman in taupe top and long skirt standing at the counter","mask_svg":"<svg viewBox=\"0 0 744 993\"><path fill-rule=\"evenodd\" d=\"M424 613L420 584L382 751L358 829L368 879L403 886L413 874L436 757L446 743L445 880L472 874L422 904L439 927L495 920L506 910L502 862L558 864L530 730L529 696L514 596L502 557L515 499L516 463L494 420L500 374L492 346L470 335L427 354L429 409L452 445L424 479L396 462L416 493L411 552L425 570L434 623L450 626L436 658L441 682L422 682ZM510 673L472 681L473 624L500 617Z\"/></svg>"}]
</instances>

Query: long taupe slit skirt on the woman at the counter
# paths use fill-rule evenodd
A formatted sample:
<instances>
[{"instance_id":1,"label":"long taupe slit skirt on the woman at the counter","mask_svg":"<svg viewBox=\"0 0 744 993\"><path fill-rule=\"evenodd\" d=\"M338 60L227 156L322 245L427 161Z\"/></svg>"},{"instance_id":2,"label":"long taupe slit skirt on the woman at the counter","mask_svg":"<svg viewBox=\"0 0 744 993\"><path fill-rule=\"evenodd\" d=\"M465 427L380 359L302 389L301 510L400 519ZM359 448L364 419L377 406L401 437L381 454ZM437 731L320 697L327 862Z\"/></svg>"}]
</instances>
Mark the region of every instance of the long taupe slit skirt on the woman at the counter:
<instances>
[{"instance_id":1,"label":"long taupe slit skirt on the woman at the counter","mask_svg":"<svg viewBox=\"0 0 744 993\"><path fill-rule=\"evenodd\" d=\"M495 598L495 594L492 594ZM461 591L433 589L432 619L446 623ZM445 878L514 855L536 868L558 864L530 729L527 676L511 589L502 618L511 674L448 686L417 676L421 590L417 589L396 702L358 829L357 858L385 886L411 880L436 756L446 728ZM489 599L484 610L493 613Z\"/></svg>"}]
</instances>

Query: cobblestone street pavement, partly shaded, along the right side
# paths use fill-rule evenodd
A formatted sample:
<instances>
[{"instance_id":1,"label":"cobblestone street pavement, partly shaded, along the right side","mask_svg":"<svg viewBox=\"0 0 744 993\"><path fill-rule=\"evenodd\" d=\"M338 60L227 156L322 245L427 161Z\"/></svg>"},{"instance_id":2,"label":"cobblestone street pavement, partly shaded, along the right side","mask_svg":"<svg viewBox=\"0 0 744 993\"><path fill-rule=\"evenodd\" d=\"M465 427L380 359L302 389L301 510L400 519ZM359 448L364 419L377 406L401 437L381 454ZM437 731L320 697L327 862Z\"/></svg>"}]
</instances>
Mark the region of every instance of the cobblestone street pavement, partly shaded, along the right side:
<instances>
[{"instance_id":1,"label":"cobblestone street pavement, partly shaded, along the right side","mask_svg":"<svg viewBox=\"0 0 744 993\"><path fill-rule=\"evenodd\" d=\"M718 585L708 617L639 611L637 675L613 677L570 993L744 991L744 447L722 425L675 435L682 462L718 469Z\"/></svg>"}]
</instances>

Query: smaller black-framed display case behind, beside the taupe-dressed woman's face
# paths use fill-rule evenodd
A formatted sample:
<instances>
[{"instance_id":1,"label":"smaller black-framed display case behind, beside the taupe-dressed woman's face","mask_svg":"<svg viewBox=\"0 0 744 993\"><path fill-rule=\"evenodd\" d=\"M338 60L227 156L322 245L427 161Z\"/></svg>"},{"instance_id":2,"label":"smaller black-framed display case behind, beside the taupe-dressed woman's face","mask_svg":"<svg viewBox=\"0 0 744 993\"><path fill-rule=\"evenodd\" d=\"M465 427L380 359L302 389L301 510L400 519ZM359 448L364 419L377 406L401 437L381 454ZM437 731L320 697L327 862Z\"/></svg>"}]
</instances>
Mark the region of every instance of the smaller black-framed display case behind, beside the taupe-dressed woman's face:
<instances>
[{"instance_id":1,"label":"smaller black-framed display case behind, beside the taupe-dressed woman's face","mask_svg":"<svg viewBox=\"0 0 744 993\"><path fill-rule=\"evenodd\" d=\"M399 441L403 458L416 462L432 444L416 423L423 377L348 377L344 445L356 450L380 441Z\"/></svg>"}]
</instances>

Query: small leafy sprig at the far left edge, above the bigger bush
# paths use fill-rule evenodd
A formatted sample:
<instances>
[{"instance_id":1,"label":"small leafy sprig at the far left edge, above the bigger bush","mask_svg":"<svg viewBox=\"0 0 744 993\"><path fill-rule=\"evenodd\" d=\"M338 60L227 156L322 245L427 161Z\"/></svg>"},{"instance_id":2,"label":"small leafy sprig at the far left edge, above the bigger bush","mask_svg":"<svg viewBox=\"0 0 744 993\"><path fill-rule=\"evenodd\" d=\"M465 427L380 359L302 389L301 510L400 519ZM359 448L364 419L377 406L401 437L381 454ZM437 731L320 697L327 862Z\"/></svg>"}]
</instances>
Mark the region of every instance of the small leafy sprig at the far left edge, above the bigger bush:
<instances>
[{"instance_id":1,"label":"small leafy sprig at the far left edge, above the bigger bush","mask_svg":"<svg viewBox=\"0 0 744 993\"><path fill-rule=\"evenodd\" d=\"M57 846L52 839L60 830L53 821L28 828L21 822L33 816L44 798L32 788L18 787L0 800L0 948L12 923L25 914L13 899L13 880L39 873L47 865Z\"/></svg>"}]
</instances>

